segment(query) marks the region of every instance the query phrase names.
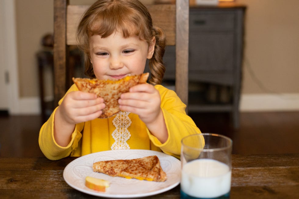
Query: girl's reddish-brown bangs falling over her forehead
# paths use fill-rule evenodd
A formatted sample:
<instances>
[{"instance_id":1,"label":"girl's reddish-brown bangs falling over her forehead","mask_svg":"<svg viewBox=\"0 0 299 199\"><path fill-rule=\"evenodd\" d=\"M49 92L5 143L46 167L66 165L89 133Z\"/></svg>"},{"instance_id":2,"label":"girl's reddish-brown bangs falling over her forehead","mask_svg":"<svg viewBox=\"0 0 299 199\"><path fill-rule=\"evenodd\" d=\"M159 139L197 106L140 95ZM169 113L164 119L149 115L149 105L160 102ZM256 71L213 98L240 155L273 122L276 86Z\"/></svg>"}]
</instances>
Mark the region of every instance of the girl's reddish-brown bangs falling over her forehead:
<instances>
[{"instance_id":1,"label":"girl's reddish-brown bangs falling over her forehead","mask_svg":"<svg viewBox=\"0 0 299 199\"><path fill-rule=\"evenodd\" d=\"M131 9L111 6L110 8L99 12L88 27L88 33L100 35L102 38L108 37L115 31L122 32L123 37L139 37L140 40L146 41L150 36L146 30L146 22L142 21L139 12Z\"/></svg>"}]
</instances>

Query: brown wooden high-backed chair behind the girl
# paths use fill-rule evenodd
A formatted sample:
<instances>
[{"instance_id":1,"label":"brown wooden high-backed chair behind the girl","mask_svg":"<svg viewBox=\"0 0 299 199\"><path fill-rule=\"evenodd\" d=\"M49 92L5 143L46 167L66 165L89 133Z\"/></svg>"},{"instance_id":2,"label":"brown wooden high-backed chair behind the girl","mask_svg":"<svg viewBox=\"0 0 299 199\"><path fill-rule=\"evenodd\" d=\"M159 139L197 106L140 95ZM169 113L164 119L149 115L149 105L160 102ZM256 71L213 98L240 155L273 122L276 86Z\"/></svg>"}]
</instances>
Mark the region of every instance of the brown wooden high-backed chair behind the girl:
<instances>
[{"instance_id":1,"label":"brown wooden high-backed chair behind the girl","mask_svg":"<svg viewBox=\"0 0 299 199\"><path fill-rule=\"evenodd\" d=\"M68 49L76 45L78 21L89 5L69 5L68 0L54 0L54 104L63 97L71 85L68 68ZM167 45L176 46L175 91L188 104L188 45L189 0L176 0L176 4L149 5L153 22L164 29ZM166 71L167 73L167 71ZM186 109L187 111L188 109Z\"/></svg>"}]
</instances>

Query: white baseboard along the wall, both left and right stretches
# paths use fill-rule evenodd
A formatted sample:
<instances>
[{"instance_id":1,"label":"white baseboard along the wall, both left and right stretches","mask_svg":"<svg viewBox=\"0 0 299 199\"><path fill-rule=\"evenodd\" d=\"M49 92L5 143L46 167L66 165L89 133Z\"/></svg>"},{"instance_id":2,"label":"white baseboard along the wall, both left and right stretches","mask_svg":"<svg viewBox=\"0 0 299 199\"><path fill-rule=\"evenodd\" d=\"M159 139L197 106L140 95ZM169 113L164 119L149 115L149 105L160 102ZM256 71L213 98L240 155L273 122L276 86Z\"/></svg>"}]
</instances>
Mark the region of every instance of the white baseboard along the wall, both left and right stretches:
<instances>
[{"instance_id":1,"label":"white baseboard along the wall, both left and right stretches","mask_svg":"<svg viewBox=\"0 0 299 199\"><path fill-rule=\"evenodd\" d=\"M38 97L20 98L19 110L13 115L37 115L41 113ZM242 94L240 112L299 111L299 93Z\"/></svg>"}]
</instances>

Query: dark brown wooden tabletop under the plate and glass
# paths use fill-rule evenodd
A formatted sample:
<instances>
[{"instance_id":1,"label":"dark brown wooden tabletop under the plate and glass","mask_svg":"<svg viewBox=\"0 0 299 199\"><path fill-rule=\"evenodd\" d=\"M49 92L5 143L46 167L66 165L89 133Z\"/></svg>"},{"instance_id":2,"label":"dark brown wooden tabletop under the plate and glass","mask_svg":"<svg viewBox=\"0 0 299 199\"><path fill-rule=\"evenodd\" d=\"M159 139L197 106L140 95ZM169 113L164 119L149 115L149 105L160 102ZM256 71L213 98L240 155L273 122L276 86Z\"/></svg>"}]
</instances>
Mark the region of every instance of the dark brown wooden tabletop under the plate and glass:
<instances>
[{"instance_id":1,"label":"dark brown wooden tabletop under the plate and glass","mask_svg":"<svg viewBox=\"0 0 299 199\"><path fill-rule=\"evenodd\" d=\"M99 198L67 185L63 169L75 158L0 157L0 198ZM232 155L234 198L299 198L299 154ZM146 198L178 199L180 187Z\"/></svg>"}]
</instances>

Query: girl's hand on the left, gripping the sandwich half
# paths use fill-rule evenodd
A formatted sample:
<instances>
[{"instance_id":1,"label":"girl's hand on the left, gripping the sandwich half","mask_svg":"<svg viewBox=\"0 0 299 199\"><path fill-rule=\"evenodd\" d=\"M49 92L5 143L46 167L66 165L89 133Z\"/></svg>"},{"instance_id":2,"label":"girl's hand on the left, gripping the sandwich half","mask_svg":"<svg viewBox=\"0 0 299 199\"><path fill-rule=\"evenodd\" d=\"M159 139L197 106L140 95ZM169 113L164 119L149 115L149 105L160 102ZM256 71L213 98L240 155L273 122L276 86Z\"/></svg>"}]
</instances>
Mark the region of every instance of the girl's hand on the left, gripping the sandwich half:
<instances>
[{"instance_id":1,"label":"girl's hand on the left, gripping the sandwich half","mask_svg":"<svg viewBox=\"0 0 299 199\"><path fill-rule=\"evenodd\" d=\"M69 124L86 122L99 117L105 104L95 94L74 91L68 93L59 106L62 119Z\"/></svg>"}]
</instances>

